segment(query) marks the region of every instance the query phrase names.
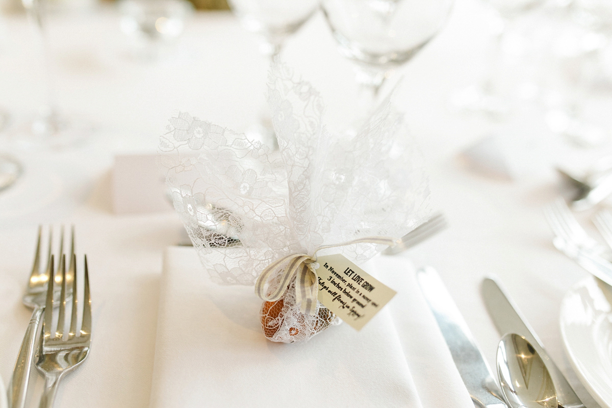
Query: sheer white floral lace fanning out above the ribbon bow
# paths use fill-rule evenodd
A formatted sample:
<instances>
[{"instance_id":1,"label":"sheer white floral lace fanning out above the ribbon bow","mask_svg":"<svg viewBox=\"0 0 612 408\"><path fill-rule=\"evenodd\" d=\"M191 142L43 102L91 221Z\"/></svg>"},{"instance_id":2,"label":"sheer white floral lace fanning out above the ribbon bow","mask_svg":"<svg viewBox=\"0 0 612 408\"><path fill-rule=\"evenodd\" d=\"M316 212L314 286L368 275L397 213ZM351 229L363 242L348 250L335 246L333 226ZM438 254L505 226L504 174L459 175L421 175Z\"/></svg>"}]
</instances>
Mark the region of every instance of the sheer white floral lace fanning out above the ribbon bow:
<instances>
[{"instance_id":1,"label":"sheer white floral lace fanning out above the ribbon bow","mask_svg":"<svg viewBox=\"0 0 612 408\"><path fill-rule=\"evenodd\" d=\"M174 207L214 281L254 284L289 254L399 238L427 216L424 166L389 102L356 136L332 135L319 92L280 64L269 75L268 102L279 152L188 113L171 118L160 138ZM333 252L359 263L384 247Z\"/></svg>"}]
</instances>

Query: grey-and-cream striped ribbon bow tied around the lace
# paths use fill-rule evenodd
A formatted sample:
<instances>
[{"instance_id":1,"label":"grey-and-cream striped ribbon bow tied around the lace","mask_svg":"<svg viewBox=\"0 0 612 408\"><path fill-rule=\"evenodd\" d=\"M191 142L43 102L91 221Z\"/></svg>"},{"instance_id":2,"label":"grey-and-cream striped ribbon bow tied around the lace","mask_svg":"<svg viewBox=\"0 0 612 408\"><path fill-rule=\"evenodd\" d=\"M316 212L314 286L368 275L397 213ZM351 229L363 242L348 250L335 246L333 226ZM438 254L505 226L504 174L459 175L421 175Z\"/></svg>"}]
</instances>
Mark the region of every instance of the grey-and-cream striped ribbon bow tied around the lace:
<instances>
[{"instance_id":1,"label":"grey-and-cream striped ribbon bow tied around the lace","mask_svg":"<svg viewBox=\"0 0 612 408\"><path fill-rule=\"evenodd\" d=\"M381 243L394 247L401 240L391 237L365 237L335 245L324 245L316 248L312 255L305 253L289 254L267 265L255 282L255 293L263 300L275 302L283 297L286 287L297 273L296 303L300 305L301 313L314 315L316 313L316 298L319 294L319 282L316 275L319 264L316 262L316 253L327 248L344 247L361 242ZM269 278L275 276L279 271L281 277L276 286L269 287L266 290L265 286ZM266 292L269 292L269 294L266 294Z\"/></svg>"}]
</instances>

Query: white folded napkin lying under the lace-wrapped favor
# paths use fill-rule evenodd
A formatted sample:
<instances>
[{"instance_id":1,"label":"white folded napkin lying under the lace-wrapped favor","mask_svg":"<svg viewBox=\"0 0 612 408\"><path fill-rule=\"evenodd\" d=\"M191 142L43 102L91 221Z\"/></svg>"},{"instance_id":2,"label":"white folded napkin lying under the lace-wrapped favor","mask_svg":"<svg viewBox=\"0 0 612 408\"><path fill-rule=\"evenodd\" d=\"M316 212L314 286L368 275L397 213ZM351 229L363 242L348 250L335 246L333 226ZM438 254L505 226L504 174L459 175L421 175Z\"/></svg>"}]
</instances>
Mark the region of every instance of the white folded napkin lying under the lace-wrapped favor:
<instances>
[{"instance_id":1,"label":"white folded napkin lying under the lace-wrapped favor","mask_svg":"<svg viewBox=\"0 0 612 408\"><path fill-rule=\"evenodd\" d=\"M383 282L400 293L418 291L414 284L403 287L406 281L414 283L409 261L376 262L384 269L379 273ZM395 281L395 275L400 280ZM452 360L441 368L434 357L432 366L427 366L422 359L430 354L427 347L424 354L406 359L405 352L414 349L405 340L414 339L415 330L426 328L411 324L420 319L416 313L422 314L422 310L405 309L411 306L411 296L396 295L389 306L397 310L381 311L360 332L343 324L305 344L281 344L268 341L261 333L261 300L253 287L211 283L193 248L166 250L161 288L152 408L419 408L422 404L408 363L424 371L419 376L433 379L428 382L432 395L434 388L443 396L450 395L435 402L472 407L465 387L458 395L454 384L449 388L446 378L436 382L432 375L443 369L446 376L454 369ZM399 317L395 324L392 315ZM410 332L408 337L397 328ZM427 338L425 335L416 344ZM447 349L441 360L445 358L450 359ZM426 395L424 400L431 398Z\"/></svg>"}]
</instances>

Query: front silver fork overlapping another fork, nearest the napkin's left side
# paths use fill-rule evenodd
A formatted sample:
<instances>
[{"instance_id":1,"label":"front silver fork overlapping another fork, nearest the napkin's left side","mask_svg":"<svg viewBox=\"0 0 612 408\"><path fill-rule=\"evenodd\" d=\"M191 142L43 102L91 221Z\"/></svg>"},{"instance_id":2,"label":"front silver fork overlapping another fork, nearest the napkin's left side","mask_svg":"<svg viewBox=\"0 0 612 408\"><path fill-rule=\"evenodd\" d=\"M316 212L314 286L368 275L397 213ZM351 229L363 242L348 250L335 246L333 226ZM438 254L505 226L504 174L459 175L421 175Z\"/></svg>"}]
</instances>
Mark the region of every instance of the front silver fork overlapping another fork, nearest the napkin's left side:
<instances>
[{"instance_id":1,"label":"front silver fork overlapping another fork, nearest the napkin's left side","mask_svg":"<svg viewBox=\"0 0 612 408\"><path fill-rule=\"evenodd\" d=\"M53 330L53 286L54 269L51 262L47 299L45 300L45 316L43 328L40 333L40 344L36 368L45 376L45 390L40 398L40 408L52 408L55 393L58 390L59 380L64 374L83 363L89 354L91 345L91 295L89 294L89 270L87 256L84 257L84 291L83 291L83 318L80 330L76 330L76 256L72 254L70 261L74 265L72 275L72 307L70 316L70 330L64 334L66 323L66 280L65 256L60 262L61 295L59 300L59 316L56 329ZM70 277L70 276L69 276Z\"/></svg>"}]
</instances>

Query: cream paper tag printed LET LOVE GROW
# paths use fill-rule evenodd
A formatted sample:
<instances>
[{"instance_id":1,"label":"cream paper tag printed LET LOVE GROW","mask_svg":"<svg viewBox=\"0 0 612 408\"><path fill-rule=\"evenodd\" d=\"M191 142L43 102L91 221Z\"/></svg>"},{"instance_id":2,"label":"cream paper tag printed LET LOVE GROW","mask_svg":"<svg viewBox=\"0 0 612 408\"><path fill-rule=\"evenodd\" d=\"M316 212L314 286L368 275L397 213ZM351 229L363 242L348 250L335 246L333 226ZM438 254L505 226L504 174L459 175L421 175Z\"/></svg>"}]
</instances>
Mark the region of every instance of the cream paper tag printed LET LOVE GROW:
<instances>
[{"instance_id":1,"label":"cream paper tag printed LET LOVE GROW","mask_svg":"<svg viewBox=\"0 0 612 408\"><path fill-rule=\"evenodd\" d=\"M319 256L317 262L317 299L356 330L361 330L397 293L341 254Z\"/></svg>"}]
</instances>

